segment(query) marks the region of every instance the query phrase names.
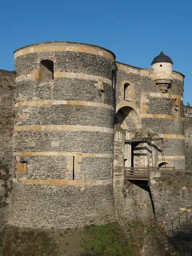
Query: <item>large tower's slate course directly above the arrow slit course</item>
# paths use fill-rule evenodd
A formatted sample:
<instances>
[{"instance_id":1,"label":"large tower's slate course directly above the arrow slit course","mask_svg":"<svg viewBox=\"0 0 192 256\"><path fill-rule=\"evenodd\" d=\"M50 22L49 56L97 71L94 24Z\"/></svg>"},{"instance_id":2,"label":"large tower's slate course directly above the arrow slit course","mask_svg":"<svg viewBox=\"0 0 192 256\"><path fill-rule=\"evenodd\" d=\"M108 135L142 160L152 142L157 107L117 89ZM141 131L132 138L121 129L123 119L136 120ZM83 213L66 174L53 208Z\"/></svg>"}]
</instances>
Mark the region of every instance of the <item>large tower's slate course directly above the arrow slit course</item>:
<instances>
[{"instance_id":1,"label":"large tower's slate course directly above the arrow slit course","mask_svg":"<svg viewBox=\"0 0 192 256\"><path fill-rule=\"evenodd\" d=\"M18 131L14 136L14 151L31 152L30 142L36 143L36 152L113 154L113 134L97 131ZM52 142L59 142L59 146L52 147Z\"/></svg>"}]
</instances>

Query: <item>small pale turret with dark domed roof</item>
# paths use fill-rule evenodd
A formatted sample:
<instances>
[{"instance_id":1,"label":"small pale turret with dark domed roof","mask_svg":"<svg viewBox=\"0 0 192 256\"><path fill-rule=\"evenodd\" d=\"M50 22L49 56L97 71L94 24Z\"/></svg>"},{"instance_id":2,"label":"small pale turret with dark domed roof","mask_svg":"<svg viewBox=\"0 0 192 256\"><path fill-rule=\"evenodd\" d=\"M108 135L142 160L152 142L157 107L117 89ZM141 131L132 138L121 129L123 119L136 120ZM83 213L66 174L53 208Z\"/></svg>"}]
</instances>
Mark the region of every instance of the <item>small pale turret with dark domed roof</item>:
<instances>
[{"instance_id":1,"label":"small pale turret with dark domed roof","mask_svg":"<svg viewBox=\"0 0 192 256\"><path fill-rule=\"evenodd\" d=\"M172 84L172 64L172 59L163 51L151 63L155 84L159 86L162 93L166 93Z\"/></svg>"}]
</instances>

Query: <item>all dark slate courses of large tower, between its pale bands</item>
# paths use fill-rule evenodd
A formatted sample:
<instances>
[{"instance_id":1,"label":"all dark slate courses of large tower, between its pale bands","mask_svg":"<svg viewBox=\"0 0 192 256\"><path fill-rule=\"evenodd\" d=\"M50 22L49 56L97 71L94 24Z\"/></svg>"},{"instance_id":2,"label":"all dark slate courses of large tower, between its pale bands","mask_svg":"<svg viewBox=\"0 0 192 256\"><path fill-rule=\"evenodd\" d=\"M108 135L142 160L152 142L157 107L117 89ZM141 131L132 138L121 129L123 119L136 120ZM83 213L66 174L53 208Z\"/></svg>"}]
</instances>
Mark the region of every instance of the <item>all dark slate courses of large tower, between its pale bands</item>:
<instances>
[{"instance_id":1,"label":"all dark slate courses of large tower, between its pale bands","mask_svg":"<svg viewBox=\"0 0 192 256\"><path fill-rule=\"evenodd\" d=\"M100 76L109 79L109 82L112 79L114 62L109 58L85 52L55 52L52 50L17 57L15 60L17 76L39 72L40 61L43 59L54 61L54 72ZM103 84L104 92L99 91L99 84ZM98 83L98 81L89 79L55 78L54 81L45 83L41 83L41 78L17 81L16 102L47 99L90 101L113 107L113 87L111 84L102 81ZM16 126L83 125L113 129L114 125L113 110L97 106L26 105L15 108L15 113ZM61 227L61 225L62 227L76 227L77 224L82 226L94 222L106 223L115 219L112 185L31 186L21 183L23 178L71 180L73 178L71 168L74 169L74 181L111 179L112 157L81 157L81 153L112 155L112 133L57 130L15 131L14 140L15 155L17 152L66 152L72 158L51 155L14 157L16 180L12 192L14 201L12 223L31 227L42 225L46 227ZM78 156L77 153L79 153ZM74 166L71 162L73 158ZM28 175L25 177L22 176L23 174L17 173L16 166L21 161L26 161L29 165ZM37 216L36 207L38 207L39 213L41 212L38 214L38 218L35 217ZM21 211L22 214L18 211ZM23 214L28 216L26 220L23 220ZM14 215L17 215L17 218L14 218Z\"/></svg>"}]
</instances>

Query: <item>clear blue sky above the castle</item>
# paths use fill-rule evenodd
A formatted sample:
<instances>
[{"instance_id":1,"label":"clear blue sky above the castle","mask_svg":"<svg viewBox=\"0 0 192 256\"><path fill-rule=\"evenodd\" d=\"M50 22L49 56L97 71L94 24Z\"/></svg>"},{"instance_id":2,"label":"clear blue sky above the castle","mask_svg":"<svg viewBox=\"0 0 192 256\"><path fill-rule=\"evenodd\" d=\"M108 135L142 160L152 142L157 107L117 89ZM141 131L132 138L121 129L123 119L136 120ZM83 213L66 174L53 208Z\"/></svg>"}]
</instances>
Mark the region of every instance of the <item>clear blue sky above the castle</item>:
<instances>
[{"instance_id":1,"label":"clear blue sky above the castle","mask_svg":"<svg viewBox=\"0 0 192 256\"><path fill-rule=\"evenodd\" d=\"M184 104L192 105L189 0L3 1L0 24L0 69L14 70L15 49L45 41L96 44L143 68L163 50L186 76Z\"/></svg>"}]
</instances>

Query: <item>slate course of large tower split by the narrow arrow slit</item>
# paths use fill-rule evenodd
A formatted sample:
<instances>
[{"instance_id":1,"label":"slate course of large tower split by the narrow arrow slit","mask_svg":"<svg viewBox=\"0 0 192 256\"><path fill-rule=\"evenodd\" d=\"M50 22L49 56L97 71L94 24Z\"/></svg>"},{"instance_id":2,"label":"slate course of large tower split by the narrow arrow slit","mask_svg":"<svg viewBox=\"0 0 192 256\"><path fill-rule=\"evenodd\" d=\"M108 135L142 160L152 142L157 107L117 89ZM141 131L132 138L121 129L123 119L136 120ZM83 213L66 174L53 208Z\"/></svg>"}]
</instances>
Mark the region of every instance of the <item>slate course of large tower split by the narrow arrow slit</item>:
<instances>
[{"instance_id":1,"label":"slate course of large tower split by the narrow arrow slit","mask_svg":"<svg viewBox=\"0 0 192 256\"><path fill-rule=\"evenodd\" d=\"M112 157L111 157L112 158ZM112 164L109 157L80 157L78 161L80 172L75 168L75 174L78 174L78 180L106 180L112 177ZM23 156L23 160L30 164L28 169L29 179L56 179L69 180L67 165L69 157L67 156ZM76 160L76 156L74 157ZM16 177L16 157L14 157L14 177ZM71 171L72 172L72 171Z\"/></svg>"}]
</instances>

